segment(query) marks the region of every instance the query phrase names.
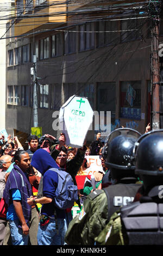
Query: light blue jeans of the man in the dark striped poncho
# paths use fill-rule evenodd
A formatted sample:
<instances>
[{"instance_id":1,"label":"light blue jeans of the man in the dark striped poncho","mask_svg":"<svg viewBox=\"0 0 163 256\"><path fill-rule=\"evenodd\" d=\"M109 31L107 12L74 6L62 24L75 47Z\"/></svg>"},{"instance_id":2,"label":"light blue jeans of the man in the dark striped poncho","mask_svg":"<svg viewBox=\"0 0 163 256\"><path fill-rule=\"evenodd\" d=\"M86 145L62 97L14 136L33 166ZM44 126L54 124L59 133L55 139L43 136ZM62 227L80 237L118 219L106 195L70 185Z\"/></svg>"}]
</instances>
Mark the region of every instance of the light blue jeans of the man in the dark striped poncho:
<instances>
[{"instance_id":1,"label":"light blue jeans of the man in the dark striped poncho","mask_svg":"<svg viewBox=\"0 0 163 256\"><path fill-rule=\"evenodd\" d=\"M14 221L9 220L12 245L28 245L29 235L23 235L23 230L21 228L18 228L19 224L20 224L19 220L14 220Z\"/></svg>"}]
</instances>

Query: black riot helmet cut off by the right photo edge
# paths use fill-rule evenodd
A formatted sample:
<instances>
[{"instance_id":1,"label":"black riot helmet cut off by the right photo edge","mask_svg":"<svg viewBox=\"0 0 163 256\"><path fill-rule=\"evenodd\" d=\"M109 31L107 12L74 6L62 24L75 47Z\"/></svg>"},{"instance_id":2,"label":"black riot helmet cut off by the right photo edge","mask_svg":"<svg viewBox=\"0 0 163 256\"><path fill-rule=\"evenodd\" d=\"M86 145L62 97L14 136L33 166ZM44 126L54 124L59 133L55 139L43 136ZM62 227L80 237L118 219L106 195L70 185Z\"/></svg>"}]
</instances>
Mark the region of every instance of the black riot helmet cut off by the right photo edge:
<instances>
[{"instance_id":1,"label":"black riot helmet cut off by the right photo edge","mask_svg":"<svg viewBox=\"0 0 163 256\"><path fill-rule=\"evenodd\" d=\"M134 147L135 173L145 186L163 181L163 129L142 135Z\"/></svg>"}]
</instances>

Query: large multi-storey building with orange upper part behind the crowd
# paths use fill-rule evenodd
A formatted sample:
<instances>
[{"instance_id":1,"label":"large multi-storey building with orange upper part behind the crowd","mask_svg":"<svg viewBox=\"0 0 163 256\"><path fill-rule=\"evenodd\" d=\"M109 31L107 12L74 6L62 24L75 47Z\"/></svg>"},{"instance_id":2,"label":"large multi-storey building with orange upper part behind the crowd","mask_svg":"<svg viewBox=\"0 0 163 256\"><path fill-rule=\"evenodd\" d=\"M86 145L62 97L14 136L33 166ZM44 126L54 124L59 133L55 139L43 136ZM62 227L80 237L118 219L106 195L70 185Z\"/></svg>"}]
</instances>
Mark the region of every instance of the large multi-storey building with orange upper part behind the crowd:
<instances>
[{"instance_id":1,"label":"large multi-storey building with orange upper part behind the crowd","mask_svg":"<svg viewBox=\"0 0 163 256\"><path fill-rule=\"evenodd\" d=\"M104 113L104 125L111 111L111 130L123 125L145 132L151 121L151 19L139 8L115 15L107 6L15 0L15 19L7 24L8 35L14 33L6 47L9 133L29 134L34 125L33 55L42 133L58 136L55 113L74 94L86 96L99 116ZM162 36L161 21L160 42ZM88 142L97 130L104 127L93 124Z\"/></svg>"}]
</instances>

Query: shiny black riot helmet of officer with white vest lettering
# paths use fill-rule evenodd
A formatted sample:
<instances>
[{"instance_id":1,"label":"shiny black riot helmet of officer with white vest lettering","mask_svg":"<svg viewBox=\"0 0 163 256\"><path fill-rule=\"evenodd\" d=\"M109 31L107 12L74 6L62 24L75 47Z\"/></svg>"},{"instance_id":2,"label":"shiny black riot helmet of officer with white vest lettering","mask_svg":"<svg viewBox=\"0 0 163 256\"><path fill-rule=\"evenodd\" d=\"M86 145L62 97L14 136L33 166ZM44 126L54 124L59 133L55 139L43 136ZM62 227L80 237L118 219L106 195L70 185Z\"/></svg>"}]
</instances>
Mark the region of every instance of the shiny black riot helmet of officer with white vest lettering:
<instances>
[{"instance_id":1,"label":"shiny black riot helmet of officer with white vest lettering","mask_svg":"<svg viewBox=\"0 0 163 256\"><path fill-rule=\"evenodd\" d=\"M112 178L135 176L133 148L141 133L130 128L112 131L105 140L102 156Z\"/></svg>"}]
</instances>

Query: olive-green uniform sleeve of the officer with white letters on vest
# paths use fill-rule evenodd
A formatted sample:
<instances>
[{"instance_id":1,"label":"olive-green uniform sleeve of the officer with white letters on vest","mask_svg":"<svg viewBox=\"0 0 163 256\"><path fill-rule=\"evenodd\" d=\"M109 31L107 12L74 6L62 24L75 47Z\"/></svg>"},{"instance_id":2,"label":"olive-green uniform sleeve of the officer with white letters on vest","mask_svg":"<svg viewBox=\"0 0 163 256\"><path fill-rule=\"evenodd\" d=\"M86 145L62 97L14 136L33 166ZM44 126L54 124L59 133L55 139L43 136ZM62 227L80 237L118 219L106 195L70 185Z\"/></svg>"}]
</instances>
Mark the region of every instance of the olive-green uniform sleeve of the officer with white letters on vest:
<instances>
[{"instance_id":1,"label":"olive-green uniform sleeve of the officer with white letters on vest","mask_svg":"<svg viewBox=\"0 0 163 256\"><path fill-rule=\"evenodd\" d=\"M105 227L108 217L107 198L103 190L87 196L79 216L68 225L65 241L68 245L94 245L95 237Z\"/></svg>"}]
</instances>

